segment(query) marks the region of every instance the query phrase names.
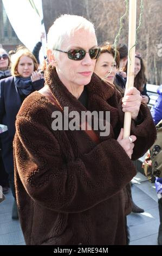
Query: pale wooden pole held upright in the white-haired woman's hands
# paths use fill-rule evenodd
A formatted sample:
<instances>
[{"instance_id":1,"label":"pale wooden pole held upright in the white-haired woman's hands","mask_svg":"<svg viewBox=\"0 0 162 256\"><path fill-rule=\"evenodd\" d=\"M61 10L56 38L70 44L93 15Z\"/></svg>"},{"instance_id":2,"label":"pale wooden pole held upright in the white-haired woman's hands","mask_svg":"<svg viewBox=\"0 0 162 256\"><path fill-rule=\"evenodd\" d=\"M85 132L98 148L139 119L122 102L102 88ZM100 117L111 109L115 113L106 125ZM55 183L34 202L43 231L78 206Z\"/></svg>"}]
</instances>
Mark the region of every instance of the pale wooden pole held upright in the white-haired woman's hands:
<instances>
[{"instance_id":1,"label":"pale wooden pole held upright in the white-haired woman's hands","mask_svg":"<svg viewBox=\"0 0 162 256\"><path fill-rule=\"evenodd\" d=\"M136 36L137 0L129 0L129 36L128 36L128 69L126 90L134 86L134 62L135 62L135 36ZM131 50L131 51L130 51ZM124 138L130 135L131 113L126 112L124 117Z\"/></svg>"}]
</instances>

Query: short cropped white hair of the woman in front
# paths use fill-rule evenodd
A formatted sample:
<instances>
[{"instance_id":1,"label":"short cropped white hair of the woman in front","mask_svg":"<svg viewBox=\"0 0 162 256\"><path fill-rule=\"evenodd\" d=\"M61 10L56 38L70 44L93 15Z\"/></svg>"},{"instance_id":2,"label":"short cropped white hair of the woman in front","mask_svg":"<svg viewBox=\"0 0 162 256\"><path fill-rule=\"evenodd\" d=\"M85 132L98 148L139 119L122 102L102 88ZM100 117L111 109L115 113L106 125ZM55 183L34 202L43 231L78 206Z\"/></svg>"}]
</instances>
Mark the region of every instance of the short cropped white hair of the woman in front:
<instances>
[{"instance_id":1,"label":"short cropped white hair of the woman in front","mask_svg":"<svg viewBox=\"0 0 162 256\"><path fill-rule=\"evenodd\" d=\"M79 29L85 29L95 34L94 25L82 16L64 14L54 21L54 24L49 28L47 34L47 48L61 50L61 45L64 40L74 34ZM59 52L55 52L55 56Z\"/></svg>"}]
</instances>

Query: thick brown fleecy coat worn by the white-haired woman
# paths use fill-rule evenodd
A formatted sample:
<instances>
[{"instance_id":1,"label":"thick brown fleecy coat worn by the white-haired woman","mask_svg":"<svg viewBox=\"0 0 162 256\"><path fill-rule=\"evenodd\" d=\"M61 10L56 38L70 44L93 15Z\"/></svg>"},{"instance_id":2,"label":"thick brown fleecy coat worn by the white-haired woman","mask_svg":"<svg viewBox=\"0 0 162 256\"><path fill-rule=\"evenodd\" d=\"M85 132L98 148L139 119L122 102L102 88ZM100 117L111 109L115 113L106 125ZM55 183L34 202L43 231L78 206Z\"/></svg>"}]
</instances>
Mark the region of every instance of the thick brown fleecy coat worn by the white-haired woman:
<instances>
[{"instance_id":1,"label":"thick brown fleecy coat worn by the white-haired woman","mask_svg":"<svg viewBox=\"0 0 162 256\"><path fill-rule=\"evenodd\" d=\"M85 107L60 82L49 66L46 84L62 107ZM126 184L134 165L116 141L123 125L121 96L111 84L93 75L88 89L89 111L111 111L111 133L96 145L85 131L53 131L51 113L58 110L34 92L17 115L14 139L15 184L20 221L27 245L125 245L128 213ZM107 103L108 102L108 103ZM132 159L153 144L155 127L147 106Z\"/></svg>"}]
</instances>

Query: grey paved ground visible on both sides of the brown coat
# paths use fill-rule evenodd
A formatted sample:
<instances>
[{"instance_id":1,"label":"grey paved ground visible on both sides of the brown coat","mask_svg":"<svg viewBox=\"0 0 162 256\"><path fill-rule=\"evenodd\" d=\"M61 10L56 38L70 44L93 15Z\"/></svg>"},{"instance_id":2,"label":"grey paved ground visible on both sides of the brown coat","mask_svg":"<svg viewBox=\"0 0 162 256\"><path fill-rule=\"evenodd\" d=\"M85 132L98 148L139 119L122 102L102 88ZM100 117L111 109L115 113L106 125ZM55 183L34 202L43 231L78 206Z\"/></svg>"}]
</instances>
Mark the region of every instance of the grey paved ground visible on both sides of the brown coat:
<instances>
[{"instance_id":1,"label":"grey paved ground visible on both sides of the brown coat","mask_svg":"<svg viewBox=\"0 0 162 256\"><path fill-rule=\"evenodd\" d=\"M154 184L141 173L135 176L133 183L133 200L145 212L128 216L130 245L157 245L159 214ZM19 221L11 219L12 202L10 192L0 204L0 245L25 245Z\"/></svg>"}]
</instances>

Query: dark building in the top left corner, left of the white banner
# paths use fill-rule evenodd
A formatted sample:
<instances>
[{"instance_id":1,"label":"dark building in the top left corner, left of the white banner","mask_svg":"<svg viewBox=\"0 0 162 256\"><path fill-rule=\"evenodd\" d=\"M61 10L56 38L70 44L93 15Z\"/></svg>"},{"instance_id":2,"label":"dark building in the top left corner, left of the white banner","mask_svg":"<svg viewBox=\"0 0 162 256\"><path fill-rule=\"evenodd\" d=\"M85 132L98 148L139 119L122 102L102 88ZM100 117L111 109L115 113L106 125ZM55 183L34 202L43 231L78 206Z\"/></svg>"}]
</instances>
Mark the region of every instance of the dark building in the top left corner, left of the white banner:
<instances>
[{"instance_id":1,"label":"dark building in the top left corner, left of the white banner","mask_svg":"<svg viewBox=\"0 0 162 256\"><path fill-rule=\"evenodd\" d=\"M0 46L7 50L14 50L17 45L22 44L12 28L5 9L0 0Z\"/></svg>"}]
</instances>

